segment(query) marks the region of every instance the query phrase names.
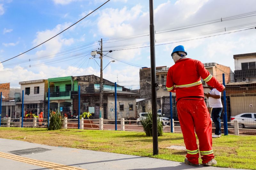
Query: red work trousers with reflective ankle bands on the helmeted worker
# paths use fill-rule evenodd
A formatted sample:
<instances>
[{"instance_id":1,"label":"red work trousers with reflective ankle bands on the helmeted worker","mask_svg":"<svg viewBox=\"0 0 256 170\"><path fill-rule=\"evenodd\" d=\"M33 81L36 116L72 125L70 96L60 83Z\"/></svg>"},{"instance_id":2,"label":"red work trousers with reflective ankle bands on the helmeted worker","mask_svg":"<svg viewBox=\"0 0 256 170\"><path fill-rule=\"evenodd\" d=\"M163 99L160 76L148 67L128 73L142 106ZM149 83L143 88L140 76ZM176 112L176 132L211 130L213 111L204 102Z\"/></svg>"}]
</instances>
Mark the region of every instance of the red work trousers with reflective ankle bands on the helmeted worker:
<instances>
[{"instance_id":1,"label":"red work trousers with reflective ankle bands on the helmeted worker","mask_svg":"<svg viewBox=\"0 0 256 170\"><path fill-rule=\"evenodd\" d=\"M177 102L177 110L188 161L198 164L200 151L203 164L209 162L214 158L212 150L212 121L204 99L181 99ZM196 144L195 131L199 140L199 151Z\"/></svg>"}]
</instances>

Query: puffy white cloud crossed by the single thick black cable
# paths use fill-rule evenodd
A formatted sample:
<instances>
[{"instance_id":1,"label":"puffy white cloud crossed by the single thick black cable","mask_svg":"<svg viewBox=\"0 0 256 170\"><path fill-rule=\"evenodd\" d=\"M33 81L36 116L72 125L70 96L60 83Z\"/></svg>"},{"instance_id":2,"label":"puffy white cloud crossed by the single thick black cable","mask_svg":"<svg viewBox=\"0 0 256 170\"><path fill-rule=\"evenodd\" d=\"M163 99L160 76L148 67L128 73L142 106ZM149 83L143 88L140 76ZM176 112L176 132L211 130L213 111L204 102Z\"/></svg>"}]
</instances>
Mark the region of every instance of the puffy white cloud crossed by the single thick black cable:
<instances>
[{"instance_id":1,"label":"puffy white cloud crossed by the single thick black cable","mask_svg":"<svg viewBox=\"0 0 256 170\"><path fill-rule=\"evenodd\" d=\"M70 25L71 25L70 23L58 24L52 30L45 30L45 31L37 32L36 39L33 41L33 46L41 44L45 40L48 40L49 38L56 35L57 33L64 30L65 28L67 28ZM74 27L71 27L68 30L70 31L73 29L74 29ZM63 34L60 34L60 35L54 37L53 39L51 39L50 41L47 41L46 43L44 43L42 46L40 46L39 48L44 48L44 49L37 51L36 55L42 56L42 55L56 53L56 52L60 51L60 49L63 45L70 46L73 43L74 43L73 38L66 39L66 38L63 38Z\"/></svg>"}]
</instances>

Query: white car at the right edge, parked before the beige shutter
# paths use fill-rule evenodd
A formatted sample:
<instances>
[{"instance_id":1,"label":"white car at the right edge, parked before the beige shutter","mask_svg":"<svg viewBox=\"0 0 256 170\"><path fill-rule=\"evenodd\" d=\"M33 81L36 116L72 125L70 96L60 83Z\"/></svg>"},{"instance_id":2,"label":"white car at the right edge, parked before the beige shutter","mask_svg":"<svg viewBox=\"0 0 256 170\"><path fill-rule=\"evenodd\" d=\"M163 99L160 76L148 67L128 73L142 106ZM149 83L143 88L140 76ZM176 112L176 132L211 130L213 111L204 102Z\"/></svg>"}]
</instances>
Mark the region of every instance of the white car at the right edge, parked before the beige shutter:
<instances>
[{"instance_id":1,"label":"white car at the right edge, parked before the beige shutter","mask_svg":"<svg viewBox=\"0 0 256 170\"><path fill-rule=\"evenodd\" d=\"M231 116L230 120L232 126L234 126L234 121L238 120L238 128L256 128L256 113L241 113Z\"/></svg>"}]
</instances>

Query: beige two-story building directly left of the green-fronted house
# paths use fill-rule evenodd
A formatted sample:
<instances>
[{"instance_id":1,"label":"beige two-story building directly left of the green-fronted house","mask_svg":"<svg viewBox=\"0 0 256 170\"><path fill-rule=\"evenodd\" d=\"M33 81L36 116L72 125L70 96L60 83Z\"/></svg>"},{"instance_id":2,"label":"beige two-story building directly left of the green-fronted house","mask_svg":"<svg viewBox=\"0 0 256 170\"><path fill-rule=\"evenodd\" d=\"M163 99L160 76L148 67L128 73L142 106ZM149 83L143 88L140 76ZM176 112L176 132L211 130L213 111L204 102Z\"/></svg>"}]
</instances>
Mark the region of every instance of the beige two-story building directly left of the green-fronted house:
<instances>
[{"instance_id":1,"label":"beige two-story building directly left of the green-fronted house","mask_svg":"<svg viewBox=\"0 0 256 170\"><path fill-rule=\"evenodd\" d=\"M17 101L17 114L21 114L22 108L22 90L24 91L24 115L25 113L33 113L38 115L40 112L45 112L45 92L47 91L48 81L45 79L31 80L31 81L21 81L20 84L20 94L16 94L15 100ZM44 114L46 116L47 114Z\"/></svg>"}]
</instances>

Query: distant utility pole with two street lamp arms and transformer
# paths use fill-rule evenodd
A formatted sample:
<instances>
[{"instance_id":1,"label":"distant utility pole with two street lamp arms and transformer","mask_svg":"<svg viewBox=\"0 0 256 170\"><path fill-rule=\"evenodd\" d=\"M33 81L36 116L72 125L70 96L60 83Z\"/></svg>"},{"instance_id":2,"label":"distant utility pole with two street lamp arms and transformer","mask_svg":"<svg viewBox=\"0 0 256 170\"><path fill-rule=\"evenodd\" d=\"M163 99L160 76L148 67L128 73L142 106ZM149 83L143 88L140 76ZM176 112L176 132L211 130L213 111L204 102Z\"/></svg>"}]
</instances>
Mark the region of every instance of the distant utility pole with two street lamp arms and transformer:
<instances>
[{"instance_id":1,"label":"distant utility pole with two street lamp arms and transformer","mask_svg":"<svg viewBox=\"0 0 256 170\"><path fill-rule=\"evenodd\" d=\"M109 51L110 53L112 51ZM94 59L95 55L100 54L100 64L98 64L98 62ZM109 63L111 62L115 62L115 60L110 61L103 69L102 69L102 57L103 57L103 53L102 53L102 39L101 39L101 48L100 48L100 52L99 51L92 51L91 55L93 57L90 57L90 59L94 59L96 61L96 63L100 66L100 118L104 119L104 114L103 114L103 70L108 66Z\"/></svg>"}]
</instances>

